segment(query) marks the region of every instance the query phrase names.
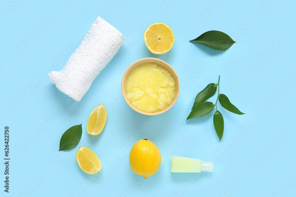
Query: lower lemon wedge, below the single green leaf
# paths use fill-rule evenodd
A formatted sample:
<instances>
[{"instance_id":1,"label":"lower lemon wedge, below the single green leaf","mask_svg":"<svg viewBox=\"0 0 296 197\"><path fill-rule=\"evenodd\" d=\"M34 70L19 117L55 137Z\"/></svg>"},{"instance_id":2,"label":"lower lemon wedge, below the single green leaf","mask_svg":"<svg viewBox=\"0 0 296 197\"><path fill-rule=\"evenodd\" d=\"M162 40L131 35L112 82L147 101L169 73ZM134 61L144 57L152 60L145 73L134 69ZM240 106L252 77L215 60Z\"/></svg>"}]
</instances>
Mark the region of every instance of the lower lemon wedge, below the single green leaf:
<instances>
[{"instance_id":1,"label":"lower lemon wedge, below the single green leaf","mask_svg":"<svg viewBox=\"0 0 296 197\"><path fill-rule=\"evenodd\" d=\"M81 170L90 175L96 174L102 169L99 157L87 147L79 147L76 153L76 161Z\"/></svg>"}]
</instances>

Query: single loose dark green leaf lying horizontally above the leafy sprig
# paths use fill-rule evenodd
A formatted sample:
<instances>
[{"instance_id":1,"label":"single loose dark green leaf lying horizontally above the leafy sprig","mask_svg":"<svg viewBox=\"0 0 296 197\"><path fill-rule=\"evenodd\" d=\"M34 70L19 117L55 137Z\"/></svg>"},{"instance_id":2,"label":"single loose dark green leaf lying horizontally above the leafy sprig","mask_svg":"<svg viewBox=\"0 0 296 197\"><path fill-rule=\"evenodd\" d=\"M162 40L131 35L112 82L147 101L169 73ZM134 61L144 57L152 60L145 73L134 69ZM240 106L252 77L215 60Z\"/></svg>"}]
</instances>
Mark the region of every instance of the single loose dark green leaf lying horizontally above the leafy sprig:
<instances>
[{"instance_id":1,"label":"single loose dark green leaf lying horizontally above the leafy sprig","mask_svg":"<svg viewBox=\"0 0 296 197\"><path fill-rule=\"evenodd\" d=\"M225 51L229 49L234 42L229 35L220 31L208 31L189 42L200 43L215 50Z\"/></svg>"}]
</instances>

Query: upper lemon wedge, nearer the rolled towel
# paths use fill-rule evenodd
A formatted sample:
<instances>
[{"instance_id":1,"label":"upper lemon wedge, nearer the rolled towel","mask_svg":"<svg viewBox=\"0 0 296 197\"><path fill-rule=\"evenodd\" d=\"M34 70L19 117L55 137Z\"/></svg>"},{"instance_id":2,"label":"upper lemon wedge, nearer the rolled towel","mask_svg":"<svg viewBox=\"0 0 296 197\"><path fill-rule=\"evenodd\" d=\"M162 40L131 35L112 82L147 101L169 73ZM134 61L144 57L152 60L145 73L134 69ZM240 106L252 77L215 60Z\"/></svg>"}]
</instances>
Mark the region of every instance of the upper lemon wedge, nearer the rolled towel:
<instances>
[{"instance_id":1,"label":"upper lemon wedge, nearer the rolled towel","mask_svg":"<svg viewBox=\"0 0 296 197\"><path fill-rule=\"evenodd\" d=\"M101 103L96 108L94 108L94 110L92 110L91 114L89 115L89 119L87 120L86 124L87 133L93 136L99 135L103 131L106 121L107 111L105 106Z\"/></svg>"}]
</instances>

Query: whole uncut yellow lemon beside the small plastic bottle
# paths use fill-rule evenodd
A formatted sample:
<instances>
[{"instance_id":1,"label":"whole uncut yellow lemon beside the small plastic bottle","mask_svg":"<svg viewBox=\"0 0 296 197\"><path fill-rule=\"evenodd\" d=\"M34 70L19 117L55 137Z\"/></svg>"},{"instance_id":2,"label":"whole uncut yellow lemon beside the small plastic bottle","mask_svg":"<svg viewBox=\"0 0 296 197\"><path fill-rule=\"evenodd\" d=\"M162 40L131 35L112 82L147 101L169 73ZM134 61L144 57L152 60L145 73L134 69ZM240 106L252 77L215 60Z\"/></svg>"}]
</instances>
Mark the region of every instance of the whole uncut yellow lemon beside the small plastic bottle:
<instances>
[{"instance_id":1,"label":"whole uncut yellow lemon beside the small plastic bottle","mask_svg":"<svg viewBox=\"0 0 296 197\"><path fill-rule=\"evenodd\" d=\"M145 138L133 145L129 155L129 161L133 172L147 178L154 175L159 169L161 155L155 144Z\"/></svg>"}]
</instances>

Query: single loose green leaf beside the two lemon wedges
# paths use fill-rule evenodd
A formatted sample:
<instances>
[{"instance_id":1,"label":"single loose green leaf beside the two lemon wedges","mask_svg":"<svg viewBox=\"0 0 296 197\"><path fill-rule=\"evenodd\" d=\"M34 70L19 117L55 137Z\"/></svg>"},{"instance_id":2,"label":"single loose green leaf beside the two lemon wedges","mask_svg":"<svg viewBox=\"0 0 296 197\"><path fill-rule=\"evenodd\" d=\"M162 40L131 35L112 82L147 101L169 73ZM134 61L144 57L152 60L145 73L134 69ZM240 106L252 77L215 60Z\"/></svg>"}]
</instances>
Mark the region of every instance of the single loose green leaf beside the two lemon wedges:
<instances>
[{"instance_id":1,"label":"single loose green leaf beside the two lemon wedges","mask_svg":"<svg viewBox=\"0 0 296 197\"><path fill-rule=\"evenodd\" d=\"M59 151L73 149L78 144L82 135L81 125L75 125L65 131L59 142Z\"/></svg>"}]
</instances>

